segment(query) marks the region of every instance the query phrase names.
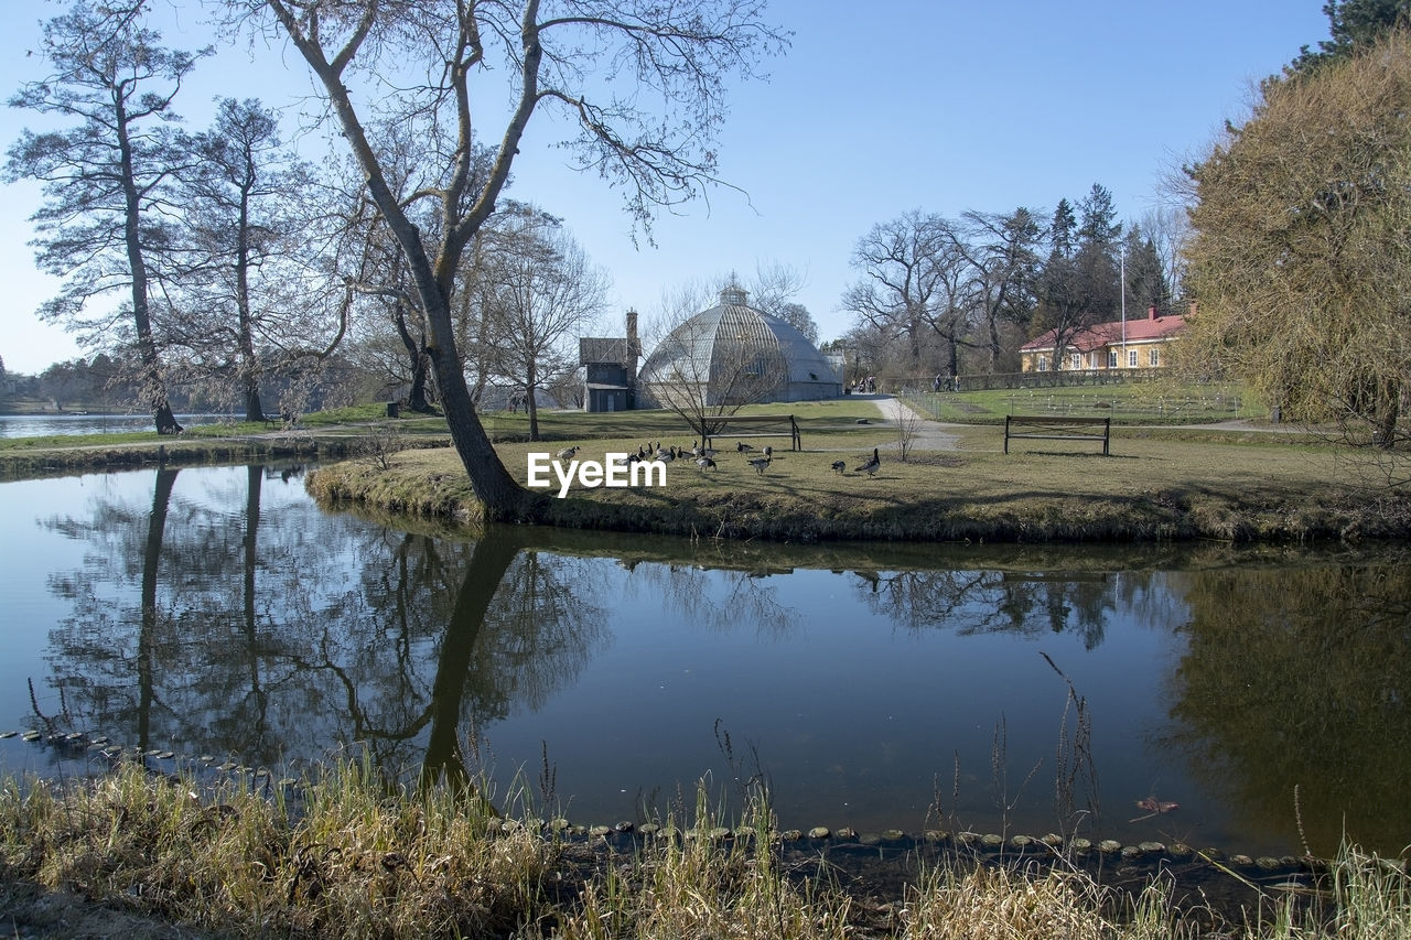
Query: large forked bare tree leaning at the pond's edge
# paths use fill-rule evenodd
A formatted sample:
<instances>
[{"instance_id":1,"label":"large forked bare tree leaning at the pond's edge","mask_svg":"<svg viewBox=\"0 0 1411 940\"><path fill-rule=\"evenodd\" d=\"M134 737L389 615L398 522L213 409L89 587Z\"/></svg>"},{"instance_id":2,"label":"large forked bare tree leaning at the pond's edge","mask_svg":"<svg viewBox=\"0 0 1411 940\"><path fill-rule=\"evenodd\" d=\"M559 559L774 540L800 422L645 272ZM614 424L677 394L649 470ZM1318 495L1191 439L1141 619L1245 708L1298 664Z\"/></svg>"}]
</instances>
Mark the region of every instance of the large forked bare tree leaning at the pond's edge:
<instances>
[{"instance_id":1,"label":"large forked bare tree leaning at the pond's edge","mask_svg":"<svg viewBox=\"0 0 1411 940\"><path fill-rule=\"evenodd\" d=\"M226 0L238 17L279 31L313 69L340 131L365 174L368 193L406 255L430 330L429 350L452 438L491 519L532 518L535 497L519 487L487 436L461 371L453 302L461 254L495 209L525 128L539 110L577 126L583 168L622 183L641 224L653 210L696 196L715 181L714 133L725 79L749 76L783 37L762 20L761 0L581 0L559 7L523 0ZM409 203L388 183L364 130L356 72L408 75L368 97L425 135L428 172L409 200L442 220L428 250ZM612 78L614 80L602 80ZM495 96L505 113L495 158L473 182L473 100ZM481 88L484 85L484 89ZM617 92L615 89L621 89ZM474 92L474 93L473 93ZM665 117L642 110L660 103Z\"/></svg>"}]
</instances>

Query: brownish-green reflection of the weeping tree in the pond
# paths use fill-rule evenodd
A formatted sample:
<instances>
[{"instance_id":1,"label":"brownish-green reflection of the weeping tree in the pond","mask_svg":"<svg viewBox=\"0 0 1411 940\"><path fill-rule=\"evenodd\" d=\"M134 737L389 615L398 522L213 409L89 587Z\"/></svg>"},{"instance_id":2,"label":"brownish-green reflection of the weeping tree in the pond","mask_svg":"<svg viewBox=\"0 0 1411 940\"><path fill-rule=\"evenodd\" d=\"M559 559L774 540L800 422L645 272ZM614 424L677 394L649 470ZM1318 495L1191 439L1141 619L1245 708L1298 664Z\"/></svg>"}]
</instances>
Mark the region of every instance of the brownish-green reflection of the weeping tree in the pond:
<instances>
[{"instance_id":1,"label":"brownish-green reflection of the weeping tree in the pond","mask_svg":"<svg viewBox=\"0 0 1411 940\"><path fill-rule=\"evenodd\" d=\"M1411 833L1411 565L1386 555L1202 570L1185 591L1170 744L1266 831L1298 813L1321 854Z\"/></svg>"}]
</instances>

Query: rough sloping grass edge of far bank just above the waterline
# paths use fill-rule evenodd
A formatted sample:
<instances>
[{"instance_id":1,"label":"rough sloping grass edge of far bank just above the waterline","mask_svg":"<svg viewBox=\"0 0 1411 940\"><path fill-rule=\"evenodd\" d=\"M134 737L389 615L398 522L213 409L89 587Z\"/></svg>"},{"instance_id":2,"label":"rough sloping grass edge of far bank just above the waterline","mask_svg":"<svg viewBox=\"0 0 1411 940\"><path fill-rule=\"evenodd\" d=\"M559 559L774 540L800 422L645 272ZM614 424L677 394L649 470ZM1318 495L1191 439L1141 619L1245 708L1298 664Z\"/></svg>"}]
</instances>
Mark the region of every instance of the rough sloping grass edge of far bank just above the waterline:
<instances>
[{"instance_id":1,"label":"rough sloping grass edge of far bank just above the waterline","mask_svg":"<svg viewBox=\"0 0 1411 940\"><path fill-rule=\"evenodd\" d=\"M831 459L831 452L818 454ZM928 463L933 462L933 463ZM916 459L944 471L950 460ZM453 452L406 454L391 467L341 462L319 467L309 493L332 508L365 510L473 526L480 507ZM694 473L694 471L689 471ZM700 474L697 474L700 476ZM708 478L707 478L708 483ZM546 497L536 524L560 529L674 535L746 542L952 543L1312 543L1411 539L1411 500L1359 487L1253 495L1170 488L1088 494L986 495L969 502L950 493L759 493L693 487L656 498L626 490L573 490Z\"/></svg>"}]
</instances>

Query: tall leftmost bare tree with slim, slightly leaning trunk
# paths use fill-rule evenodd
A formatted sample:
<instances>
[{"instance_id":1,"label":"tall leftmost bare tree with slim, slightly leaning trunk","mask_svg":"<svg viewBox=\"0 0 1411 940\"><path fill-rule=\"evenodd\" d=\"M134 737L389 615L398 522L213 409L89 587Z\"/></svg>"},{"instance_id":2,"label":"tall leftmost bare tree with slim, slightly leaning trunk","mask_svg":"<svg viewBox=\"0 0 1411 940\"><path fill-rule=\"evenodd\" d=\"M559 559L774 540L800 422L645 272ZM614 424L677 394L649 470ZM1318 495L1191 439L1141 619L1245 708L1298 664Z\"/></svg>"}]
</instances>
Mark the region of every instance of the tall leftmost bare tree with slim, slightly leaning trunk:
<instances>
[{"instance_id":1,"label":"tall leftmost bare tree with slim, slightly leaning trunk","mask_svg":"<svg viewBox=\"0 0 1411 940\"><path fill-rule=\"evenodd\" d=\"M38 265L63 278L40 316L110 343L127 319L138 385L159 433L176 433L154 329L152 270L169 240L171 183L186 159L172 100L200 54L164 48L141 25L141 3L73 8L44 25L52 73L25 83L11 107L73 120L66 130L25 130L11 145L6 178L44 185L37 223ZM95 301L126 294L126 309L95 312Z\"/></svg>"}]
</instances>

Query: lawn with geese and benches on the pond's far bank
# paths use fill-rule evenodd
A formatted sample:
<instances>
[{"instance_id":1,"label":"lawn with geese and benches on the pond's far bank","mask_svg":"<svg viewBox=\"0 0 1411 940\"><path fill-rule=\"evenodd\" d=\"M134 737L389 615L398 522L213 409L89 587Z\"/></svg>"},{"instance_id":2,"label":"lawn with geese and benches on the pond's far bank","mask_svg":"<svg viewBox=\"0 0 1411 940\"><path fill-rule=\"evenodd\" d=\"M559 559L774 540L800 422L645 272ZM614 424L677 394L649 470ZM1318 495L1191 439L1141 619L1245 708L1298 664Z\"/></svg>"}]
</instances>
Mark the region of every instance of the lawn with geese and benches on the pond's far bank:
<instances>
[{"instance_id":1,"label":"lawn with geese and benches on the pond's far bank","mask_svg":"<svg viewBox=\"0 0 1411 940\"><path fill-rule=\"evenodd\" d=\"M697 538L787 541L1309 541L1405 538L1411 501L1374 466L1316 438L1259 430L1115 428L1112 456L1082 442L1012 442L992 426L951 426L941 449L899 459L897 429L872 409L866 425L830 415L804 425L804 449L776 449L756 473L729 438L718 467L673 462L666 486L586 488L546 497L543 519L569 528ZM803 423L803 422L801 422ZM580 445L577 457L636 450L672 435L562 436L505 442L498 452L523 484L529 454ZM679 430L677 443L691 440ZM776 445L783 442L773 442ZM763 442L756 440L756 446ZM855 467L880 447L875 476ZM890 449L889 449L890 447ZM844 473L832 463L842 460ZM550 476L552 478L552 476ZM396 512L471 521L477 504L450 450L402 453L385 466L320 469L310 491ZM557 484L553 486L557 493Z\"/></svg>"}]
</instances>

